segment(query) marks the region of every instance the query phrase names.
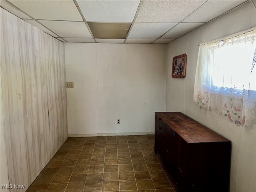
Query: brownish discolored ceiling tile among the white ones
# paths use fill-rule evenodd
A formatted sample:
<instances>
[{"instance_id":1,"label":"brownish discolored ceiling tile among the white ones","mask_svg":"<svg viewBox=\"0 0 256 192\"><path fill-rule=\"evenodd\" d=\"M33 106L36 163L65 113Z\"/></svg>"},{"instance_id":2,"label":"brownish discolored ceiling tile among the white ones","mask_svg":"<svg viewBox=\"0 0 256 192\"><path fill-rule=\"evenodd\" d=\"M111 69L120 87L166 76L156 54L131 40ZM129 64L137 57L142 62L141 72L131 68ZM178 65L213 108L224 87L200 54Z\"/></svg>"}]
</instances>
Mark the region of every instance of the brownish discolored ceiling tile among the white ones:
<instances>
[{"instance_id":1,"label":"brownish discolored ceiling tile among the white ones","mask_svg":"<svg viewBox=\"0 0 256 192\"><path fill-rule=\"evenodd\" d=\"M95 38L125 39L132 24L130 23L88 23Z\"/></svg>"}]
</instances>

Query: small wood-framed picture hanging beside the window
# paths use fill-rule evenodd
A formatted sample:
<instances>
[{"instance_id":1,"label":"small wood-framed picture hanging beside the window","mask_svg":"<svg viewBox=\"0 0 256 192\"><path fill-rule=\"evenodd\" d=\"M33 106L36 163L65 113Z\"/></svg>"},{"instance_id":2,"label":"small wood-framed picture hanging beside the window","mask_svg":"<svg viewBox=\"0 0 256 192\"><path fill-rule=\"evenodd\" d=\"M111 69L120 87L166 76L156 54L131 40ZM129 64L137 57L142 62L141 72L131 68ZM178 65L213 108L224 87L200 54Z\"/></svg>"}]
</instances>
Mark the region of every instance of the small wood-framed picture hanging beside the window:
<instances>
[{"instance_id":1,"label":"small wood-framed picture hanging beside the window","mask_svg":"<svg viewBox=\"0 0 256 192\"><path fill-rule=\"evenodd\" d=\"M186 74L187 55L182 54L172 59L172 77L184 78Z\"/></svg>"}]
</instances>

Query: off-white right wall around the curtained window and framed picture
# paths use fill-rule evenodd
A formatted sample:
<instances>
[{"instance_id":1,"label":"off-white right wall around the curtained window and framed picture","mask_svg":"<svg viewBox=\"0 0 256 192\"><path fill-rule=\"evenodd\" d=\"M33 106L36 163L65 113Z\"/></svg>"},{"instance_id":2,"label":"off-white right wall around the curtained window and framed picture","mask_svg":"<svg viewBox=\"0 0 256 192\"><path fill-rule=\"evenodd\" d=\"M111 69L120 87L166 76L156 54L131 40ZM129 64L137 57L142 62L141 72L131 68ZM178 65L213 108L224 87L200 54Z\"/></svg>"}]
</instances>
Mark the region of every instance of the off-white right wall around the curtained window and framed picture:
<instances>
[{"instance_id":1,"label":"off-white right wall around the curtained window and framed picture","mask_svg":"<svg viewBox=\"0 0 256 192\"><path fill-rule=\"evenodd\" d=\"M255 26L256 9L248 2L170 42L167 49L166 111L180 111L231 140L230 192L256 192L256 125L236 126L221 114L201 110L193 102L198 45ZM184 53L186 77L172 78L172 58Z\"/></svg>"}]
</instances>

